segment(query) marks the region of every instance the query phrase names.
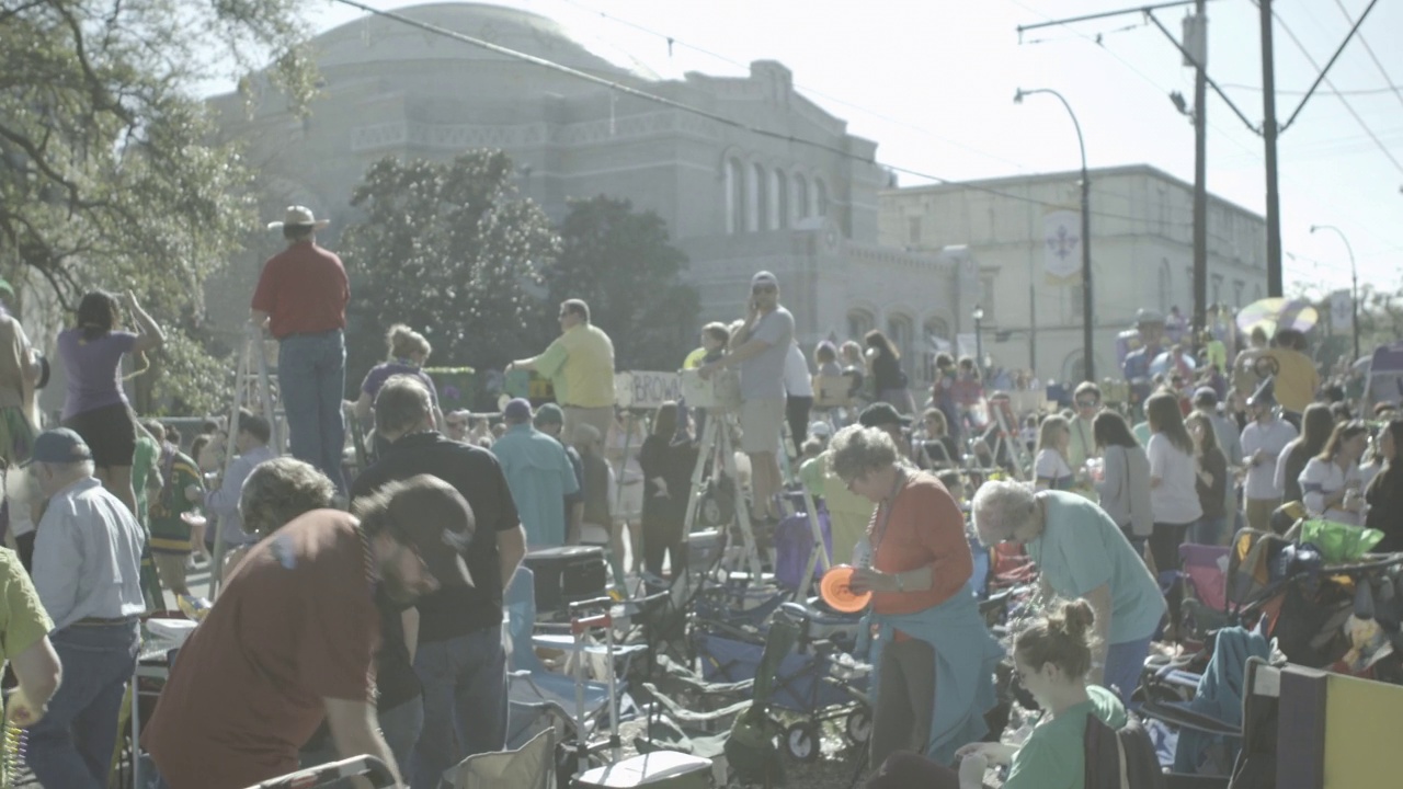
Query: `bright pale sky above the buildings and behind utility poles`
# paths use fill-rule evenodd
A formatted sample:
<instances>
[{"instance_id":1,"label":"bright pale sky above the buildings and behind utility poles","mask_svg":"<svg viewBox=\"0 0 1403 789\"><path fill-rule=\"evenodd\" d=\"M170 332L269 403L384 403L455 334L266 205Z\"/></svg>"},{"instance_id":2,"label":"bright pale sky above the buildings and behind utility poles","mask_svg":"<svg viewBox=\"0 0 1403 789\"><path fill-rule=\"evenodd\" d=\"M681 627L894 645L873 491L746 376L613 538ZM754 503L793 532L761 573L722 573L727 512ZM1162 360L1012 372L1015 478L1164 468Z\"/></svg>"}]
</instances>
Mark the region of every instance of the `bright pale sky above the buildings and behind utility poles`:
<instances>
[{"instance_id":1,"label":"bright pale sky above the buildings and behind utility poles","mask_svg":"<svg viewBox=\"0 0 1403 789\"><path fill-rule=\"evenodd\" d=\"M363 0L384 10L405 0ZM1092 167L1148 163L1193 181L1194 138L1170 91L1193 101L1193 72L1139 14L1020 37L1020 24L1134 6L1124 0L501 0L567 24L586 42L627 52L662 77L744 74L783 62L800 91L878 143L878 160L948 180L1070 170L1079 164L1066 112L1051 97L1013 104L1017 87L1061 91L1086 136ZM1369 0L1277 0L1275 60L1282 122L1301 102ZM1179 31L1184 11L1157 11ZM362 11L313 4L316 31ZM1261 122L1258 10L1208 3L1209 74ZM640 29L644 28L644 29ZM1354 246L1360 281L1397 289L1403 268L1403 4L1381 1L1358 38L1281 136L1282 246L1288 292L1348 285L1336 225ZM1292 41L1299 39L1299 46ZM673 44L668 46L668 38ZM1382 69L1379 67L1382 65ZM1322 84L1323 91L1330 86ZM1355 119L1350 108L1358 114ZM1208 188L1251 211L1266 205L1261 138L1209 93ZM1362 125L1361 122L1362 121ZM1369 135L1378 138L1375 143ZM902 177L902 184L919 184ZM1094 206L1093 206L1094 209ZM1187 216L1184 218L1188 219Z\"/></svg>"}]
</instances>

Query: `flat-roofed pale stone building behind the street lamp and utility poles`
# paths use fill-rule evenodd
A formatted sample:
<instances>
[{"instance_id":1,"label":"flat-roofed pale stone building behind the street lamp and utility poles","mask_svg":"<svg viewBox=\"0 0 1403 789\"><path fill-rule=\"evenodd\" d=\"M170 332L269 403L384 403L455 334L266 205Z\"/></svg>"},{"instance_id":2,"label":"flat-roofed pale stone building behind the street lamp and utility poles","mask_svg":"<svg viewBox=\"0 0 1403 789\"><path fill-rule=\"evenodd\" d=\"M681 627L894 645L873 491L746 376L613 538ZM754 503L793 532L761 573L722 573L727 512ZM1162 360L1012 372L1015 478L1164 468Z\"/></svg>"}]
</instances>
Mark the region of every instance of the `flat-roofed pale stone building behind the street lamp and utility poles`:
<instances>
[{"instance_id":1,"label":"flat-roofed pale stone building behind the street lamp and utility poles","mask_svg":"<svg viewBox=\"0 0 1403 789\"><path fill-rule=\"evenodd\" d=\"M1115 336L1142 307L1193 317L1193 185L1149 166L1090 171L1097 378L1118 366ZM916 253L961 244L975 260L982 345L996 365L1042 380L1080 380L1080 173L887 190L880 241ZM1066 222L1056 222L1061 216ZM1058 233L1058 227L1065 232ZM1058 258L1056 253L1063 253ZM1049 277L1049 270L1073 271ZM1208 303L1239 307L1267 292L1266 222L1208 198ZM962 303L961 334L974 331Z\"/></svg>"}]
</instances>

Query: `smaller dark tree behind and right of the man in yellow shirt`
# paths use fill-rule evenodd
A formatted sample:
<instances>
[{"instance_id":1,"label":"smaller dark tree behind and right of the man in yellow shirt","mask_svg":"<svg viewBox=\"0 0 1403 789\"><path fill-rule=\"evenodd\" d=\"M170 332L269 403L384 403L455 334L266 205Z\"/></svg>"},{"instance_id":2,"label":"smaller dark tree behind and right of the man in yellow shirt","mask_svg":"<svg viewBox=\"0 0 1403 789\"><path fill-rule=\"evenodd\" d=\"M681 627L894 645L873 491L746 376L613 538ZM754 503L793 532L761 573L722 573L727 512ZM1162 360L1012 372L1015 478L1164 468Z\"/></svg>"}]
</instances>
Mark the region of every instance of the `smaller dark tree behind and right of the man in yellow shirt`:
<instances>
[{"instance_id":1,"label":"smaller dark tree behind and right of the man in yellow shirt","mask_svg":"<svg viewBox=\"0 0 1403 789\"><path fill-rule=\"evenodd\" d=\"M551 302L584 299L613 340L619 369L680 366L696 347L700 300L680 279L687 257L666 222L600 195L571 201L560 236L560 258L546 274Z\"/></svg>"}]
</instances>

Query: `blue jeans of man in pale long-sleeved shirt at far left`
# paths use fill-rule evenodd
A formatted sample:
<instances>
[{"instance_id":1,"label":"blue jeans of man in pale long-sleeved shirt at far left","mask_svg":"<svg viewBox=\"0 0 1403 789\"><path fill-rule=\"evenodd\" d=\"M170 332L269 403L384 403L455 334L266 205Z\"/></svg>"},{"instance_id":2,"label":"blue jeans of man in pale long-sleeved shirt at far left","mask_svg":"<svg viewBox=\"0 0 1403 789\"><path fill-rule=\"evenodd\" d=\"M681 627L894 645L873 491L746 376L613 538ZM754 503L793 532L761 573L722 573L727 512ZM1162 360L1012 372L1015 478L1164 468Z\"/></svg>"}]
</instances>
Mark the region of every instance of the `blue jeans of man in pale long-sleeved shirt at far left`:
<instances>
[{"instance_id":1,"label":"blue jeans of man in pale long-sleeved shirt at far left","mask_svg":"<svg viewBox=\"0 0 1403 789\"><path fill-rule=\"evenodd\" d=\"M29 729L28 762L45 786L104 789L116 745L116 716L136 671L137 623L70 625L49 637L63 684Z\"/></svg>"}]
</instances>

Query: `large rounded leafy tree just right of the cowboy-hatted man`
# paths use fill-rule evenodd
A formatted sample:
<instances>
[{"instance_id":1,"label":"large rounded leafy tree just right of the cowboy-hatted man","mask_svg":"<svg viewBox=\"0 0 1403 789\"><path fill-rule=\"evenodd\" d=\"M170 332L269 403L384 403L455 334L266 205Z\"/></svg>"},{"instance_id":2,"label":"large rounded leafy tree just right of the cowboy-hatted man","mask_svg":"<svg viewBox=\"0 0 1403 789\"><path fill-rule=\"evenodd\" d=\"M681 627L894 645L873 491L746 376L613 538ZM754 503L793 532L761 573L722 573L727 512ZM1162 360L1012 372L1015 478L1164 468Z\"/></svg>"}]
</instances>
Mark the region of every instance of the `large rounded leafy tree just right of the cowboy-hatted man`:
<instances>
[{"instance_id":1,"label":"large rounded leafy tree just right of the cowboy-hatted man","mask_svg":"<svg viewBox=\"0 0 1403 789\"><path fill-rule=\"evenodd\" d=\"M396 323L424 333L434 365L502 368L540 350L554 321L532 291L560 240L516 192L509 156L382 159L351 205L363 212L341 236L358 324L352 376L384 357L382 337Z\"/></svg>"}]
</instances>

